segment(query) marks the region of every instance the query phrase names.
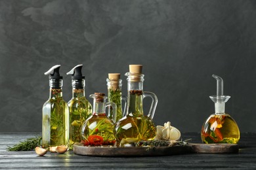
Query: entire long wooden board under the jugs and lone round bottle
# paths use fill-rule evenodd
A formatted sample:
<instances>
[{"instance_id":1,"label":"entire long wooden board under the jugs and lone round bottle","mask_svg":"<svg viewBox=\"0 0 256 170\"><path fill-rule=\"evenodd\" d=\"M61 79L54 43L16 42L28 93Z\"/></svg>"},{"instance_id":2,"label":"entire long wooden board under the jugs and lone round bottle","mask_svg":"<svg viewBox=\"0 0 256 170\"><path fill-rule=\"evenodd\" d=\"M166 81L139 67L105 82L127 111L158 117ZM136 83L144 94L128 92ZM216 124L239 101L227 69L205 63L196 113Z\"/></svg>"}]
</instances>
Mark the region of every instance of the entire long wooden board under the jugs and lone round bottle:
<instances>
[{"instance_id":1,"label":"entire long wooden board under the jugs and lone round bottle","mask_svg":"<svg viewBox=\"0 0 256 170\"><path fill-rule=\"evenodd\" d=\"M86 156L129 157L129 156L170 156L191 153L238 153L238 144L198 144L156 147L93 147L74 144L74 153Z\"/></svg>"}]
</instances>

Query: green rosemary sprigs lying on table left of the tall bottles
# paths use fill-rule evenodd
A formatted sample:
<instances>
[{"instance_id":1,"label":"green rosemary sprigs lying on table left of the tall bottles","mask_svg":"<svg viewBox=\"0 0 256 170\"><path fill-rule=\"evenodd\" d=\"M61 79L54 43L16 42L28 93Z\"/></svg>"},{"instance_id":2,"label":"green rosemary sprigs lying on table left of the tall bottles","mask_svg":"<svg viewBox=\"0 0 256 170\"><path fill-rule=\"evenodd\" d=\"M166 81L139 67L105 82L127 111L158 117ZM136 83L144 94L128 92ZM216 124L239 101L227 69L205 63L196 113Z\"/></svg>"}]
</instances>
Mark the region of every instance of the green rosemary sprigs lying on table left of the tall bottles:
<instances>
[{"instance_id":1,"label":"green rosemary sprigs lying on table left of the tall bottles","mask_svg":"<svg viewBox=\"0 0 256 170\"><path fill-rule=\"evenodd\" d=\"M41 146L42 137L33 137L14 146L7 146L8 151L29 151L34 150L36 146Z\"/></svg>"}]
</instances>

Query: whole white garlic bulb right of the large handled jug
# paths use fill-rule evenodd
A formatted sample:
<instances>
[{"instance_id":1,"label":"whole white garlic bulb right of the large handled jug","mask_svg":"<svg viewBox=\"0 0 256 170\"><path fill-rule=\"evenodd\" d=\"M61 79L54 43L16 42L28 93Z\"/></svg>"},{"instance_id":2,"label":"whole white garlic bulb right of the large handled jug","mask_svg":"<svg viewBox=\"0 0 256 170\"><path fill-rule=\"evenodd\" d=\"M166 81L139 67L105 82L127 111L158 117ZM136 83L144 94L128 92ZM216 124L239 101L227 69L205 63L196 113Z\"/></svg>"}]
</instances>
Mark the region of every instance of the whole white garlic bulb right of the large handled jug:
<instances>
[{"instance_id":1,"label":"whole white garlic bulb right of the large handled jug","mask_svg":"<svg viewBox=\"0 0 256 170\"><path fill-rule=\"evenodd\" d=\"M167 141L176 141L180 139L181 132L171 126L171 122L167 122L164 126L156 126L156 137L155 140L167 140Z\"/></svg>"}]
</instances>

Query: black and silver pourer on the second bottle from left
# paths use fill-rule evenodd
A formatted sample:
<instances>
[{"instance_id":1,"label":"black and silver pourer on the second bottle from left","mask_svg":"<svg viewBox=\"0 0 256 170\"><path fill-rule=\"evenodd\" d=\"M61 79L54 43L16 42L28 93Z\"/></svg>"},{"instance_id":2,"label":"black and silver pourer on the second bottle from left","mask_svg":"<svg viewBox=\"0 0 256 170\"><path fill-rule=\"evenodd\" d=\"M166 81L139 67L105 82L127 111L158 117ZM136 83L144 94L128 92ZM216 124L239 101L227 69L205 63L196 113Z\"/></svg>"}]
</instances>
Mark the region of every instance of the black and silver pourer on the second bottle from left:
<instances>
[{"instance_id":1,"label":"black and silver pourer on the second bottle from left","mask_svg":"<svg viewBox=\"0 0 256 170\"><path fill-rule=\"evenodd\" d=\"M82 75L83 64L76 65L67 75L72 75L72 86L74 88L83 88L85 86L85 76Z\"/></svg>"}]
</instances>

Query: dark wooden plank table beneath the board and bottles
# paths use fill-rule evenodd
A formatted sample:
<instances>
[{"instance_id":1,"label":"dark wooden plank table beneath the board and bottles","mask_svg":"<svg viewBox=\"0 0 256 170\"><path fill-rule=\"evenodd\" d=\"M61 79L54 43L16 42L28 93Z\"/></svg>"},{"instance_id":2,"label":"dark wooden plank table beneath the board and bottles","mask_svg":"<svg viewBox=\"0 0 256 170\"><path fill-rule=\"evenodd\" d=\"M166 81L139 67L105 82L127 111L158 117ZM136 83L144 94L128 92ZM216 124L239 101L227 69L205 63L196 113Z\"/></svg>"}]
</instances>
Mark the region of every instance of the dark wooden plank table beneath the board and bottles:
<instances>
[{"instance_id":1,"label":"dark wooden plank table beneath the board and bottles","mask_svg":"<svg viewBox=\"0 0 256 170\"><path fill-rule=\"evenodd\" d=\"M173 156L102 158L35 151L9 152L7 146L40 135L0 133L0 169L256 169L256 133L242 133L238 154L182 154ZM184 133L182 139L201 143L199 133Z\"/></svg>"}]
</instances>

